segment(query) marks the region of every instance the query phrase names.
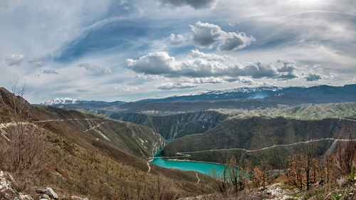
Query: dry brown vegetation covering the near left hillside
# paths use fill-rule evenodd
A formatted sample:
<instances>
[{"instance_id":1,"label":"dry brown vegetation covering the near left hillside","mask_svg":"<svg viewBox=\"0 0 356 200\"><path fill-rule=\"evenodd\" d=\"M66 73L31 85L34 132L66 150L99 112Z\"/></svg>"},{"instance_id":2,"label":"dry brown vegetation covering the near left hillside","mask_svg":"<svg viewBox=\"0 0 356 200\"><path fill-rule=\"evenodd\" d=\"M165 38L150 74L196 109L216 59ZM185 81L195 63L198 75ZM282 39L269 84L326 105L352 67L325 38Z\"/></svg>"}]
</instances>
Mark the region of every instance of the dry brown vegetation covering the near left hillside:
<instances>
[{"instance_id":1,"label":"dry brown vegetation covering the near left hillside","mask_svg":"<svg viewBox=\"0 0 356 200\"><path fill-rule=\"evenodd\" d=\"M164 169L154 164L150 164L147 173L147 162L127 153L129 149L83 131L97 125L100 117L88 123L62 122L61 119L95 116L29 105L4 88L0 88L0 104L0 122L11 123L0 130L0 170L14 175L19 184L17 189L33 191L36 187L50 186L61 194L61 199L75 195L90 200L123 199L128 191L131 199L176 199L214 192L211 187L214 179L209 176L199 174L202 181L197 184L195 172ZM37 122L41 120L52 121ZM135 128L123 122L117 122L116 126L126 125ZM144 131L139 127L136 134L145 135ZM116 134L126 132L119 130Z\"/></svg>"}]
</instances>

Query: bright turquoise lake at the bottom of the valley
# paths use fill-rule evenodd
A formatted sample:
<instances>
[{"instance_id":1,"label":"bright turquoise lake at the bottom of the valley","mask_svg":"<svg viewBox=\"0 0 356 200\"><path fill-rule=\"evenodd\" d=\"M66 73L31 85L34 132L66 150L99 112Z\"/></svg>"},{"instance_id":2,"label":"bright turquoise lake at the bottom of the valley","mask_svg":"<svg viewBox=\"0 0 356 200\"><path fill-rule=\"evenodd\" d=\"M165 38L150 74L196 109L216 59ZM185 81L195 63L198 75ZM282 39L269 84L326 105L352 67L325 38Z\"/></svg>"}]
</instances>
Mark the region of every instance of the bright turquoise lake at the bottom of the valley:
<instances>
[{"instance_id":1,"label":"bright turquoise lake at the bottom of the valley","mask_svg":"<svg viewBox=\"0 0 356 200\"><path fill-rule=\"evenodd\" d=\"M160 151L157 152L155 156L159 155L159 153ZM213 171L215 171L217 175L221 174L224 171L224 165L222 164L212 164L212 163L204 163L204 162L175 161L175 160L166 160L162 158L155 158L152 160L151 163L164 168L174 168L174 169L180 169L182 171L197 171L202 174L207 174L209 176L213 175L212 174Z\"/></svg>"}]
</instances>

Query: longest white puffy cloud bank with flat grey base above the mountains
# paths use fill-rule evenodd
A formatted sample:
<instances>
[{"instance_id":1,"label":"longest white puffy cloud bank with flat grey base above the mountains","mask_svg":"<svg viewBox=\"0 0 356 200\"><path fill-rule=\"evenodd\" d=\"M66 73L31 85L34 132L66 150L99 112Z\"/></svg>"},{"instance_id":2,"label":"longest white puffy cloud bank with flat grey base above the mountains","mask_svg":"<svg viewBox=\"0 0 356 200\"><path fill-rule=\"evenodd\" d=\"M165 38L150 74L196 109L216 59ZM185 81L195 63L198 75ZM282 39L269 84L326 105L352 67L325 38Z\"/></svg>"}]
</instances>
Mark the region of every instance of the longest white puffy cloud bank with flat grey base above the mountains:
<instances>
[{"instance_id":1,"label":"longest white puffy cloud bank with flat grey base above the mountains","mask_svg":"<svg viewBox=\"0 0 356 200\"><path fill-rule=\"evenodd\" d=\"M277 60L276 63L258 60L239 63L226 55L203 53L198 50L193 50L187 58L182 60L176 60L165 51L148 53L137 60L127 59L126 68L145 75L190 78L190 80L185 80L189 83L239 81L251 85L253 83L251 78L271 78L275 80L305 78L305 80L313 81L328 76L323 75L323 70L320 70L320 67L308 68L306 65L298 65L293 60Z\"/></svg>"}]
</instances>

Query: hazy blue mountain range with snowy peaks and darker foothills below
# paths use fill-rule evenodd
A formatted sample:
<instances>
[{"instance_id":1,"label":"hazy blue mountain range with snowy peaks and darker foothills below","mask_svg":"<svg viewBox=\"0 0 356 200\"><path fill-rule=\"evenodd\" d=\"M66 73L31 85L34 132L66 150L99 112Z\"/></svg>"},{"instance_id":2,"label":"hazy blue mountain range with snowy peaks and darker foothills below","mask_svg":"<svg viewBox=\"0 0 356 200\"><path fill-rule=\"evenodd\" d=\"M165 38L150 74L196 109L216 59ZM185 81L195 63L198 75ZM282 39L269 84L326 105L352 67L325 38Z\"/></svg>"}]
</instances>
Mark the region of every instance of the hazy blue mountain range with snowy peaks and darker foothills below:
<instances>
[{"instance_id":1,"label":"hazy blue mountain range with snowy peaks and darker foothills below","mask_svg":"<svg viewBox=\"0 0 356 200\"><path fill-rule=\"evenodd\" d=\"M146 113L170 115L177 112L196 112L210 109L248 109L301 105L305 103L331 103L356 101L356 85L305 87L259 87L214 90L198 95L173 96L137 102L101 102L81 100L52 100L46 105L85 109L111 115L120 113Z\"/></svg>"}]
</instances>

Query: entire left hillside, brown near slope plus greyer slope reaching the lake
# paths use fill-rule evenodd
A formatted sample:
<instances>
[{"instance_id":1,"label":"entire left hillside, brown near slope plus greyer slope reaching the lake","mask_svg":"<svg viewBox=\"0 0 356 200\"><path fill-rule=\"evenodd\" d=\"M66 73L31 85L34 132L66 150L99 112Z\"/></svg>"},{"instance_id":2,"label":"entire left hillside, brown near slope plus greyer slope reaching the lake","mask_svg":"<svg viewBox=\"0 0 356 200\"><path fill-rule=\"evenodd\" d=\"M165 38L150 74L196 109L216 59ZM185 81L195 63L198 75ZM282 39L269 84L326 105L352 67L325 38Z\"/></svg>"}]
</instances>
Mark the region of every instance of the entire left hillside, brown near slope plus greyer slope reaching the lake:
<instances>
[{"instance_id":1,"label":"entire left hillside, brown near slope plus greyer slope reaching the lake","mask_svg":"<svg viewBox=\"0 0 356 200\"><path fill-rule=\"evenodd\" d=\"M15 102L15 109L11 102ZM26 135L32 130L33 136L28 136L43 138L43 149L38 149L38 155L28 160L41 166L38 178L25 176L23 171L23 175L18 175L9 165L11 154L4 156L6 149L0 148L0 170L10 170L16 185L26 183L23 187L30 193L35 186L51 186L62 195L61 199L66 194L89 199L123 199L129 194L132 198L148 195L149 191L194 196L214 190L211 187L214 180L209 176L199 174L204 184L197 184L195 172L164 169L143 160L155 151L162 138L150 128L73 110L29 105L4 88L0 88L0 104L0 147L12 145L19 130ZM32 143L26 141L21 143L23 147L33 148ZM26 155L23 152L23 156ZM24 172L36 174L35 169L28 168L30 171ZM162 185L157 185L159 182Z\"/></svg>"}]
</instances>

